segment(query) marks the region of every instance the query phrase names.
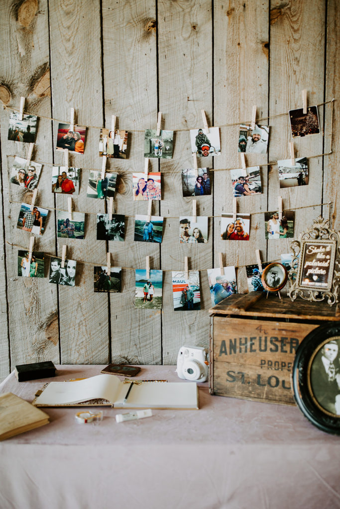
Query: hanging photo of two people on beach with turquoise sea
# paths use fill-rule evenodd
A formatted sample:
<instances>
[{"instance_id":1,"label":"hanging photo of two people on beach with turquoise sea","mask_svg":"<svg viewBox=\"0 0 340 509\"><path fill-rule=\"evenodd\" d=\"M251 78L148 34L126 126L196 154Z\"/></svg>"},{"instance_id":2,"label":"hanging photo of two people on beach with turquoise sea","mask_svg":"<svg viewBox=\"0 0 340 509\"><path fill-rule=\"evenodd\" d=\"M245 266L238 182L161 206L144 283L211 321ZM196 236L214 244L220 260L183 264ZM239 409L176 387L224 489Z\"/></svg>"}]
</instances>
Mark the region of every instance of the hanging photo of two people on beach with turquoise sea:
<instances>
[{"instance_id":1,"label":"hanging photo of two people on beach with turquoise sea","mask_svg":"<svg viewBox=\"0 0 340 509\"><path fill-rule=\"evenodd\" d=\"M137 269L135 275L135 307L162 309L162 270L150 270L150 277L146 277L146 269Z\"/></svg>"}]
</instances>

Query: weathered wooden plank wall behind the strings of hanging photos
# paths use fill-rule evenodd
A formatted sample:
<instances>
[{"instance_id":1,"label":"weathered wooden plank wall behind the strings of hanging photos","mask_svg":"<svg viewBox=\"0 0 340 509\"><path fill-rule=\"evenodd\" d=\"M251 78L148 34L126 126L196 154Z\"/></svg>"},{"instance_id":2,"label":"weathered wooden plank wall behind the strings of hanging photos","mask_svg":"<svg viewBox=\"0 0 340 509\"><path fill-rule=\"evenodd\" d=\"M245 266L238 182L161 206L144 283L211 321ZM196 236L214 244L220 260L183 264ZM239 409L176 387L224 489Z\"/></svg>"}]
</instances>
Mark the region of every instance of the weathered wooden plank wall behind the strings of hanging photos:
<instances>
[{"instance_id":1,"label":"weathered wooden plank wall behind the strings of hanging photos","mask_svg":"<svg viewBox=\"0 0 340 509\"><path fill-rule=\"evenodd\" d=\"M323 214L334 228L337 219L339 159L339 14L336 0L3 0L0 19L3 59L0 62L2 196L0 236L0 379L17 363L53 360L58 363L174 364L179 347L208 344L211 307L206 269L236 265L239 291L246 291L246 264L279 260L289 252L289 239L265 240L263 212L283 207L295 210L297 235L311 219ZM289 158L289 109L308 103L319 107L324 136L295 138L297 156L309 159L309 185L280 192L278 159ZM65 196L50 192L51 167L62 164L54 150L57 121L68 122L75 108L80 125L88 129L84 156L72 155L70 165L83 168L75 211L86 212L84 240L67 241L68 256L79 260L76 286L57 287L47 279L17 276L17 250L28 247L28 235L16 229L21 201L31 194L9 188L8 171L14 155L27 147L7 140L9 108L27 97L25 111L40 116L33 160L43 162L38 205L50 208L46 231L35 248L61 255L65 239L56 237L56 209L67 209ZM267 124L267 156L249 156L247 164L261 166L263 194L239 200L238 210L251 213L251 241L225 242L220 215L232 211L230 174L240 167L238 128L226 124L250 121L252 105ZM204 109L210 125L221 127L220 157L208 157L214 169L213 196L197 200L198 215L209 216L209 241L178 243L178 217L192 214L192 200L182 197L181 168L192 167L189 128L201 125ZM134 216L146 214L145 203L134 203L132 173L144 168L146 128L175 131L173 159L150 160L149 171L162 172L162 201L152 214L163 215L161 245L134 242ZM129 158L108 161L119 174L115 211L126 216L124 242L96 241L96 213L104 203L86 196L89 169L101 169L98 157L100 127L110 127L116 115L120 129L130 131ZM330 155L321 154L332 151ZM329 206L322 203L332 202ZM239 245L242 244L242 245ZM106 261L126 267L121 294L93 292L93 265ZM164 270L163 309L135 309L134 270ZM202 306L199 312L175 313L171 270L200 270ZM85 263L87 262L87 263ZM47 273L46 273L47 275Z\"/></svg>"}]
</instances>

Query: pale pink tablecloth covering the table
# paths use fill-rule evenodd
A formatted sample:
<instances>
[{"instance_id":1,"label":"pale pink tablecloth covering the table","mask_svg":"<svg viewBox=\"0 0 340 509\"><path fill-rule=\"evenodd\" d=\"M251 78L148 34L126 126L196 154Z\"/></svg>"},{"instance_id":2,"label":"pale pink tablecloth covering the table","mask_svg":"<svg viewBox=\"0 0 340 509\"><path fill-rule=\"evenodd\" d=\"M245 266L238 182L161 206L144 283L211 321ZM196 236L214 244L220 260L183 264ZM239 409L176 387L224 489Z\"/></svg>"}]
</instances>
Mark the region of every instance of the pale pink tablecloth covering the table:
<instances>
[{"instance_id":1,"label":"pale pink tablecloth covering the table","mask_svg":"<svg viewBox=\"0 0 340 509\"><path fill-rule=\"evenodd\" d=\"M58 378L0 392L32 401L45 381L94 376L102 366L57 366ZM179 381L175 366L142 366L139 378ZM153 410L116 423L79 425L79 409L48 408L50 424L0 442L2 509L292 509L340 507L340 439L297 407L212 396L200 410Z\"/></svg>"}]
</instances>

